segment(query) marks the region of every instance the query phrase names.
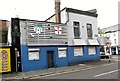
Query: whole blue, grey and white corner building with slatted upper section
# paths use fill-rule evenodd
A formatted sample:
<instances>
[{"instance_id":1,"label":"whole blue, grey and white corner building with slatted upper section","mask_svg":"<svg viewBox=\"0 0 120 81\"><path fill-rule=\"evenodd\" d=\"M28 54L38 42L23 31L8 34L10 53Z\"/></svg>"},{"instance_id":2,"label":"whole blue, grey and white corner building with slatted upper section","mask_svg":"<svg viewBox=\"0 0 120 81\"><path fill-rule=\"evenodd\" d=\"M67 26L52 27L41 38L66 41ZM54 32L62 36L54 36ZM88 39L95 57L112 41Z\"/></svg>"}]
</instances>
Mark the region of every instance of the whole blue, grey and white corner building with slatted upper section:
<instances>
[{"instance_id":1,"label":"whole blue, grey and white corner building with slatted upper section","mask_svg":"<svg viewBox=\"0 0 120 81\"><path fill-rule=\"evenodd\" d=\"M12 18L18 71L68 66L100 59L96 10L64 8L46 21Z\"/></svg>"}]
</instances>

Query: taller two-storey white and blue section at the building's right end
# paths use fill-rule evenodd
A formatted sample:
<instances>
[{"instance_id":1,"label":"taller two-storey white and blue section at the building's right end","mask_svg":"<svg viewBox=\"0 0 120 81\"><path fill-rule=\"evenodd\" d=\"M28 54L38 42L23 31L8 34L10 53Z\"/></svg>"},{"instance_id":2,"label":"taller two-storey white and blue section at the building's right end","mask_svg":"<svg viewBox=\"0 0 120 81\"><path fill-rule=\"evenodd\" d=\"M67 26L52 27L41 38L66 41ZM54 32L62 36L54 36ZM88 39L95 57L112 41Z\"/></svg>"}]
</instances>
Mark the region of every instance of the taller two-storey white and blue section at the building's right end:
<instances>
[{"instance_id":1,"label":"taller two-storey white and blue section at the building's right end","mask_svg":"<svg viewBox=\"0 0 120 81\"><path fill-rule=\"evenodd\" d=\"M96 10L81 11L72 8L64 8L60 13L61 23L67 25L68 46L71 48L72 54L76 54L77 51L83 51L83 49L84 51L89 50L88 53L85 53L88 54L88 56L84 55L86 58L72 57L69 61L75 63L81 61L80 59L93 60L99 58L99 54L96 54L99 53L96 50L99 45L97 41L98 26ZM55 14L52 15L46 21L55 22L55 16ZM93 52L93 57L92 55L89 55L90 52Z\"/></svg>"}]
</instances>

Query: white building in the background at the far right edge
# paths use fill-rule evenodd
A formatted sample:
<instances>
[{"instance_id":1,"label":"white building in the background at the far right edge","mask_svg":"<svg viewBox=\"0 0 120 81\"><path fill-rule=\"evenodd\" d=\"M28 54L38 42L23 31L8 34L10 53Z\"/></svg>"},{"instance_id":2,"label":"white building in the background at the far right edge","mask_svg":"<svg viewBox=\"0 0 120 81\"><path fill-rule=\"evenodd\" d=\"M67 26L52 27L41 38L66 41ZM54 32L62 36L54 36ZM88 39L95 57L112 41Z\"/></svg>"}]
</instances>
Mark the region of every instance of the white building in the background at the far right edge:
<instances>
[{"instance_id":1,"label":"white building in the background at the far right edge","mask_svg":"<svg viewBox=\"0 0 120 81\"><path fill-rule=\"evenodd\" d=\"M104 32L104 37L107 37L108 38L107 41L109 41L111 43L110 47L111 47L112 54L113 55L120 54L120 41L119 41L120 28L119 28L119 24L100 29L100 31Z\"/></svg>"}]
</instances>

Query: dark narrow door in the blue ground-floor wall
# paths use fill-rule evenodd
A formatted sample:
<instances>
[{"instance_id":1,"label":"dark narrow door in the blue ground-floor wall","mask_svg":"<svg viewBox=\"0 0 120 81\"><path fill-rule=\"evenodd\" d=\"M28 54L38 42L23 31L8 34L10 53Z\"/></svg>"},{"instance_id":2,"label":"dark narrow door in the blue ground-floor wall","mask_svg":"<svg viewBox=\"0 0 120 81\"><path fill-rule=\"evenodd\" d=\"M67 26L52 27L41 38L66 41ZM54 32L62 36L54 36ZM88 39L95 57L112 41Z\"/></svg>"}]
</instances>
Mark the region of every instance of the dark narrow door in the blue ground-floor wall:
<instances>
[{"instance_id":1,"label":"dark narrow door in the blue ground-floor wall","mask_svg":"<svg viewBox=\"0 0 120 81\"><path fill-rule=\"evenodd\" d=\"M48 68L54 67L54 52L48 51Z\"/></svg>"}]
</instances>

